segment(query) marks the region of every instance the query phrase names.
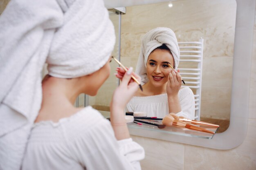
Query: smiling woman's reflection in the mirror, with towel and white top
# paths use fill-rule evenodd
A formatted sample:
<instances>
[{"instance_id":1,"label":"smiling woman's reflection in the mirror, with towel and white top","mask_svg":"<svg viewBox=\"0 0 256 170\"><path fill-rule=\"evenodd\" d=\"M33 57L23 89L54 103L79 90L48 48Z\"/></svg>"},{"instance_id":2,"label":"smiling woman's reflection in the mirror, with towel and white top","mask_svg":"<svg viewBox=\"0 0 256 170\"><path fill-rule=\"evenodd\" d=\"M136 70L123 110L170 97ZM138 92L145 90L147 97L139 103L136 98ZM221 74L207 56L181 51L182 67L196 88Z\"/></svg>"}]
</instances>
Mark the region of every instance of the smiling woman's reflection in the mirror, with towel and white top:
<instances>
[{"instance_id":1,"label":"smiling woman's reflection in the mirror, with towel and white top","mask_svg":"<svg viewBox=\"0 0 256 170\"><path fill-rule=\"evenodd\" d=\"M136 73L141 76L143 92L137 91L126 106L126 112L146 112L149 117L164 117L176 113L195 118L195 98L189 87L182 87L177 69L180 50L175 33L168 28L156 28L144 35ZM117 77L124 70L118 68Z\"/></svg>"}]
</instances>

